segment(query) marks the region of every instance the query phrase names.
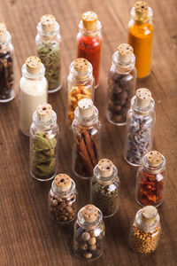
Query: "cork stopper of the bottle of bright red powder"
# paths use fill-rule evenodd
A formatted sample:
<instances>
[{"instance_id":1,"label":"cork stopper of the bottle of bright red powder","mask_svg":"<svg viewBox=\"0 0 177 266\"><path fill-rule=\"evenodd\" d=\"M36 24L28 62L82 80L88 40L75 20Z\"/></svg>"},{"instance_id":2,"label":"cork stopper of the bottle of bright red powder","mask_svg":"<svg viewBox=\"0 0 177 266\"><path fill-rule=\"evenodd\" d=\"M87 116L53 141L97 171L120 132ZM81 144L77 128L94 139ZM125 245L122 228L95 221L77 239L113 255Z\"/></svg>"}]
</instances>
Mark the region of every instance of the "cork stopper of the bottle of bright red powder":
<instances>
[{"instance_id":1,"label":"cork stopper of the bottle of bright red powder","mask_svg":"<svg viewBox=\"0 0 177 266\"><path fill-rule=\"evenodd\" d=\"M81 16L83 26L88 30L96 30L97 28L97 15L95 12L85 12Z\"/></svg>"}]
</instances>

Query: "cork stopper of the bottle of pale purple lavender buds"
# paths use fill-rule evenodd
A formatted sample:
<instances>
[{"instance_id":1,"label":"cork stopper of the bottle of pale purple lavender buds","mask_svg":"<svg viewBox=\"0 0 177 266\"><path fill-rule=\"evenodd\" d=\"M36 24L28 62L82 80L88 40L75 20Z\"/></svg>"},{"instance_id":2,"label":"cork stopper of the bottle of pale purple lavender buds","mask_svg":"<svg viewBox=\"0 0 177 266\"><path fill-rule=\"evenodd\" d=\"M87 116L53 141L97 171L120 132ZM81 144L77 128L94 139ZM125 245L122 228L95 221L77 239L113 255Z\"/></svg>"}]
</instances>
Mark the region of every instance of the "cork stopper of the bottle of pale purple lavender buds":
<instances>
[{"instance_id":1,"label":"cork stopper of the bottle of pale purple lavender buds","mask_svg":"<svg viewBox=\"0 0 177 266\"><path fill-rule=\"evenodd\" d=\"M151 92L146 88L136 90L136 104L139 107L146 108L150 106Z\"/></svg>"}]
</instances>

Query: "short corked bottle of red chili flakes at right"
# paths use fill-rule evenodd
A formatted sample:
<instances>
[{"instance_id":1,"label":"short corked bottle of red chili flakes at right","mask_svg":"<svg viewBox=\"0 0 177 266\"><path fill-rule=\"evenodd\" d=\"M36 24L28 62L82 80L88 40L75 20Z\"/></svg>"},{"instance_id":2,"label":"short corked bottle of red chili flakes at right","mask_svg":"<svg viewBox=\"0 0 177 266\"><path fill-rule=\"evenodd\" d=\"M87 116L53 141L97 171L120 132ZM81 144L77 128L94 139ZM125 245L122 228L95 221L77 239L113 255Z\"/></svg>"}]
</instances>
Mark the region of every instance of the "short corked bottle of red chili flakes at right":
<instances>
[{"instance_id":1,"label":"short corked bottle of red chili flakes at right","mask_svg":"<svg viewBox=\"0 0 177 266\"><path fill-rule=\"evenodd\" d=\"M151 151L142 158L136 179L135 198L142 205L158 207L163 200L165 187L165 157Z\"/></svg>"}]
</instances>

